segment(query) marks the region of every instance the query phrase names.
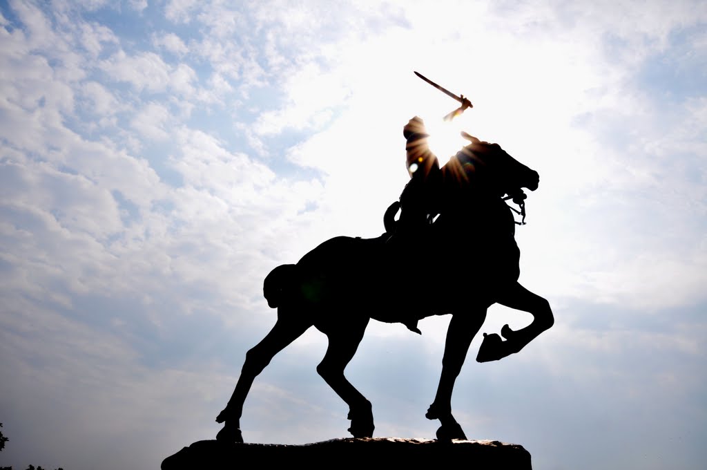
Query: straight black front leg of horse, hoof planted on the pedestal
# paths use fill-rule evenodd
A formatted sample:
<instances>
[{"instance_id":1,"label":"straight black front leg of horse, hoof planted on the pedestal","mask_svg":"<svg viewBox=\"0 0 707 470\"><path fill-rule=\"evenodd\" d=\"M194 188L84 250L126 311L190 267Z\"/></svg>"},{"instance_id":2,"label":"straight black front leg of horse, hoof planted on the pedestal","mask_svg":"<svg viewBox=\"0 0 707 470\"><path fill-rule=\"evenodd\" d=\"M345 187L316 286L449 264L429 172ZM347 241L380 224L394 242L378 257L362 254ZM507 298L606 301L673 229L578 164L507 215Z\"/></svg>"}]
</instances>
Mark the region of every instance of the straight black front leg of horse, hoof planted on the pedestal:
<instances>
[{"instance_id":1,"label":"straight black front leg of horse, hoof planted on the pedestal","mask_svg":"<svg viewBox=\"0 0 707 470\"><path fill-rule=\"evenodd\" d=\"M486 319L486 308L478 308L468 314L453 314L447 331L442 374L437 386L435 401L427 410L426 418L440 420L438 440L466 439L462 427L452 415L452 391L464 365L469 345Z\"/></svg>"}]
</instances>

